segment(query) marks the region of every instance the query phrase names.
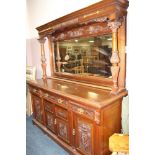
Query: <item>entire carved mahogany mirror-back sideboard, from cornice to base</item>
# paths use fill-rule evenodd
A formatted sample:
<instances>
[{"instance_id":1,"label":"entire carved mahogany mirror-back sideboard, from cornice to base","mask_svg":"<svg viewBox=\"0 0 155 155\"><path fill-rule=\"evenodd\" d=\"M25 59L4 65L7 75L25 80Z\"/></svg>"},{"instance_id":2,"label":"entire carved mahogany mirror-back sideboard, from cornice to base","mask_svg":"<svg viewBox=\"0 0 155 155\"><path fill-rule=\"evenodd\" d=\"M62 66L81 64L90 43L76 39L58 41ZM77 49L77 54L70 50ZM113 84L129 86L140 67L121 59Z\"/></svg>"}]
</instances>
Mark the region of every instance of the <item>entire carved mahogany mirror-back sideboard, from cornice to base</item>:
<instances>
[{"instance_id":1,"label":"entire carved mahogany mirror-back sideboard, from cornice to base","mask_svg":"<svg viewBox=\"0 0 155 155\"><path fill-rule=\"evenodd\" d=\"M103 0L36 28L43 76L27 82L33 123L70 154L109 155L109 137L121 132L127 8Z\"/></svg>"}]
</instances>

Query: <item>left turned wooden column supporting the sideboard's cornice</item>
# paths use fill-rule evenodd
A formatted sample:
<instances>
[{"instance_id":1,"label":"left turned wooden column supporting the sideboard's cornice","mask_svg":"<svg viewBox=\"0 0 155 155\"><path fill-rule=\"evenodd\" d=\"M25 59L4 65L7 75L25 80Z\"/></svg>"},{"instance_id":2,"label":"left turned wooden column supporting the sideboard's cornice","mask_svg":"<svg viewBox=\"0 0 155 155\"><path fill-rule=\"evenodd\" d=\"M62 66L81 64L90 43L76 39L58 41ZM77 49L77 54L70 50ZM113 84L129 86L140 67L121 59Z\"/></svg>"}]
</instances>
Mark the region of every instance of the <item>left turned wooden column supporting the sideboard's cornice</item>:
<instances>
[{"instance_id":1,"label":"left turned wooden column supporting the sideboard's cornice","mask_svg":"<svg viewBox=\"0 0 155 155\"><path fill-rule=\"evenodd\" d=\"M45 49L44 49L44 43L46 41L45 38L40 38L38 39L39 43L40 43L40 47L41 47L41 66L42 66L42 70L43 70L43 79L46 79L47 78L47 75L46 75L46 58L45 58Z\"/></svg>"}]
</instances>

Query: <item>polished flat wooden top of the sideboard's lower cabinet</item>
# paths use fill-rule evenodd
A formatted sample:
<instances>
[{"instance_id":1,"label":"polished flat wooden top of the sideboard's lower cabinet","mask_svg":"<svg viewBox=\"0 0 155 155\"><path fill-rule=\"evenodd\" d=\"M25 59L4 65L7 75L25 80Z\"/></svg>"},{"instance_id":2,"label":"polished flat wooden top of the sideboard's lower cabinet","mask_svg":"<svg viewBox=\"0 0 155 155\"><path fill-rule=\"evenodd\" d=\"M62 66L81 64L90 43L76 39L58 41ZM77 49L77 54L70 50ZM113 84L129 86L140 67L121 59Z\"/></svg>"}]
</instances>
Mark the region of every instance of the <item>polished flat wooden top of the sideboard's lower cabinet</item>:
<instances>
[{"instance_id":1,"label":"polished flat wooden top of the sideboard's lower cabinet","mask_svg":"<svg viewBox=\"0 0 155 155\"><path fill-rule=\"evenodd\" d=\"M119 93L118 95L111 95L109 90L94 88L90 86L81 85L78 83L66 82L58 79L47 79L28 81L28 84L53 92L64 97L76 99L84 104L95 108L102 108L112 103L113 101L127 95L127 91Z\"/></svg>"}]
</instances>

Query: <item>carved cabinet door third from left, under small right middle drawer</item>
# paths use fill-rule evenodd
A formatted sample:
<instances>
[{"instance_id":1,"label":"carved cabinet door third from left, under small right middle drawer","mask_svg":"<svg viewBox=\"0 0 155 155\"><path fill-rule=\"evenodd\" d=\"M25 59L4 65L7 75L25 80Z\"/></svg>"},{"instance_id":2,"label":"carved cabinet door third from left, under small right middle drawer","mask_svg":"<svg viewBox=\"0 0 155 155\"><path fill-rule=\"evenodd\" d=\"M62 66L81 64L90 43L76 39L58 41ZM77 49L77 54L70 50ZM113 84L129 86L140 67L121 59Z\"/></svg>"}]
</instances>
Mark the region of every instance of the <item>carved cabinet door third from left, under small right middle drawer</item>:
<instances>
[{"instance_id":1,"label":"carved cabinet door third from left, under small right middle drawer","mask_svg":"<svg viewBox=\"0 0 155 155\"><path fill-rule=\"evenodd\" d=\"M70 143L70 132L68 122L59 118L56 118L56 120L58 137L64 140L65 142Z\"/></svg>"}]
</instances>

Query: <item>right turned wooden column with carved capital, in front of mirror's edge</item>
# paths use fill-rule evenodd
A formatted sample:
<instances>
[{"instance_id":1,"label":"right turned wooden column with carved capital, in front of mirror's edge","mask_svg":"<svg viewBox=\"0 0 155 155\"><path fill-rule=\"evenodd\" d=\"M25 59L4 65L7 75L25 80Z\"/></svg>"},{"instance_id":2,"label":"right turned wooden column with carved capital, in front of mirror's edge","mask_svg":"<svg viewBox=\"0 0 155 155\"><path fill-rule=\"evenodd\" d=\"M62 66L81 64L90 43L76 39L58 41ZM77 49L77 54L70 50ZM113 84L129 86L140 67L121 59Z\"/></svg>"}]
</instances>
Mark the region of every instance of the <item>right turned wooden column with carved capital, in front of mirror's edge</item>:
<instances>
[{"instance_id":1,"label":"right turned wooden column with carved capital, in front of mirror's edge","mask_svg":"<svg viewBox=\"0 0 155 155\"><path fill-rule=\"evenodd\" d=\"M121 25L118 21L110 21L108 22L108 26L112 30L112 56L111 56L111 73L112 73L112 79L113 79L113 87L112 87L112 94L118 93L118 75L120 67L118 65L120 59L118 56L118 28Z\"/></svg>"}]
</instances>

